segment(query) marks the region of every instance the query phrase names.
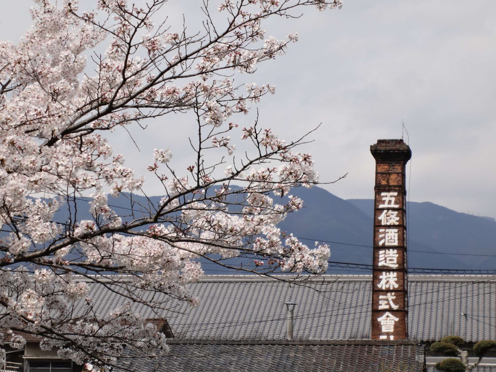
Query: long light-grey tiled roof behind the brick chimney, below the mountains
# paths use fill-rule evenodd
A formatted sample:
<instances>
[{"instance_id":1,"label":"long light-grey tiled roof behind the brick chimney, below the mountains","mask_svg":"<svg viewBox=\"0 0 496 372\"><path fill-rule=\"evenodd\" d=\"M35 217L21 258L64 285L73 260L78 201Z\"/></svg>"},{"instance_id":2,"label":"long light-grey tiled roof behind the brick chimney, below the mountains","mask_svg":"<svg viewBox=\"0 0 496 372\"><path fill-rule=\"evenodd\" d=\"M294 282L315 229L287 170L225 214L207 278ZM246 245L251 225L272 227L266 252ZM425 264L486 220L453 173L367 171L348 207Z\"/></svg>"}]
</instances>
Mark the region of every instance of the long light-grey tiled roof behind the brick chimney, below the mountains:
<instances>
[{"instance_id":1,"label":"long light-grey tiled roof behind the brick chimney, below the mountains","mask_svg":"<svg viewBox=\"0 0 496 372\"><path fill-rule=\"evenodd\" d=\"M321 277L326 293L249 276L205 277L192 284L201 304L189 309L174 300L164 303L174 335L184 340L284 340L285 302L296 302L296 340L370 339L371 277ZM496 339L495 276L409 276L410 339L436 341L457 334L467 342ZM100 310L119 300L92 285ZM139 309L145 317L157 317ZM465 315L462 315L465 314Z\"/></svg>"}]
</instances>

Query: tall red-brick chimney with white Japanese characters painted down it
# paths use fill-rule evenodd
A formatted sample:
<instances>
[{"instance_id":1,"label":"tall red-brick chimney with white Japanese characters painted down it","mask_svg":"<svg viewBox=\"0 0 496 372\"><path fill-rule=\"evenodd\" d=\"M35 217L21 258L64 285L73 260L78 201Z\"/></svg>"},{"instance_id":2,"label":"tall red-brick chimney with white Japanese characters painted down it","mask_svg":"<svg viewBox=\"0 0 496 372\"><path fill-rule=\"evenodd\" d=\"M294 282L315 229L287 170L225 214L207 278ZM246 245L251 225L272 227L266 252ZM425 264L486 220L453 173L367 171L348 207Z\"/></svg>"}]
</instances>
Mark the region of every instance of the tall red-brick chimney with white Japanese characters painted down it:
<instances>
[{"instance_id":1,"label":"tall red-brick chimney with white Japanese characters painted down it","mask_svg":"<svg viewBox=\"0 0 496 372\"><path fill-rule=\"evenodd\" d=\"M378 139L373 223L372 340L408 338L406 163L403 139Z\"/></svg>"}]
</instances>

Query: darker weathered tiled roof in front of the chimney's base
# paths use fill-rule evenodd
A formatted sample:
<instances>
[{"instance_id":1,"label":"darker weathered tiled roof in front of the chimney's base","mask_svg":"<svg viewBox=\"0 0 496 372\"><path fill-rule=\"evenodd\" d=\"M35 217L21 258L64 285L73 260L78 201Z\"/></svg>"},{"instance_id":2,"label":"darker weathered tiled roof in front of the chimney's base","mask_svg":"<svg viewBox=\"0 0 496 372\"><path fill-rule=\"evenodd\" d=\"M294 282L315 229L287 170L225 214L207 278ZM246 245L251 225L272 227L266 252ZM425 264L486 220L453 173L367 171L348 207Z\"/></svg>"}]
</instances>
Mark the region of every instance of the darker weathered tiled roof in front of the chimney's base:
<instances>
[{"instance_id":1,"label":"darker weathered tiled roof in front of the chimney's base","mask_svg":"<svg viewBox=\"0 0 496 372\"><path fill-rule=\"evenodd\" d=\"M137 371L167 372L377 372L382 363L424 367L424 346L365 344L173 343L170 354L131 360L123 366ZM357 358L360 356L360 358ZM409 370L410 371L410 370Z\"/></svg>"}]
</instances>

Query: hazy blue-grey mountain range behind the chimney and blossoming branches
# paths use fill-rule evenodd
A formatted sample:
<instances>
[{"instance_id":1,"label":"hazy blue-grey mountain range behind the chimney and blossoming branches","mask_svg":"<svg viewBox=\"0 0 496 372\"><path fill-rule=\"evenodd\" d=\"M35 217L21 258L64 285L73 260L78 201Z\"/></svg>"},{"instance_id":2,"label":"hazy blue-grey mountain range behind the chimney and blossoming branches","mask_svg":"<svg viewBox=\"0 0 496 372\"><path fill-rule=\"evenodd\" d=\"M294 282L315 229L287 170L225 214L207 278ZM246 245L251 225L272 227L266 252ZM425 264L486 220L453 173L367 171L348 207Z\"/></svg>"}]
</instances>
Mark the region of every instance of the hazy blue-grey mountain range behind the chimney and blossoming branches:
<instances>
[{"instance_id":1,"label":"hazy blue-grey mountain range behind the chimney and blossoming branches","mask_svg":"<svg viewBox=\"0 0 496 372\"><path fill-rule=\"evenodd\" d=\"M234 186L236 187L236 186ZM293 233L309 246L315 241L328 241L332 261L372 264L372 199L341 199L320 188L298 187L291 191L304 200L305 207L289 213L278 225L282 231ZM127 197L126 197L127 196ZM109 196L109 205L119 214L128 213L129 195L118 198ZM275 201L277 201L277 196ZM161 196L150 197L158 205ZM132 195L134 208L148 206L143 196ZM491 219L458 213L430 202L410 202L408 211L409 267L495 269L496 257L465 256L442 253L496 254L496 222ZM63 219L66 209L57 213ZM135 213L134 217L138 217ZM78 219L91 219L88 204L78 202ZM131 221L132 216L123 217ZM345 243L345 244L339 244ZM365 246L365 247L361 247ZM415 252L415 251L427 251ZM437 253L436 253L437 252ZM439 254L441 253L441 254ZM247 264L252 258L234 259L232 263ZM207 274L226 274L225 268L205 262ZM237 272L237 271L234 271ZM363 269L330 267L329 274L368 274Z\"/></svg>"}]
</instances>

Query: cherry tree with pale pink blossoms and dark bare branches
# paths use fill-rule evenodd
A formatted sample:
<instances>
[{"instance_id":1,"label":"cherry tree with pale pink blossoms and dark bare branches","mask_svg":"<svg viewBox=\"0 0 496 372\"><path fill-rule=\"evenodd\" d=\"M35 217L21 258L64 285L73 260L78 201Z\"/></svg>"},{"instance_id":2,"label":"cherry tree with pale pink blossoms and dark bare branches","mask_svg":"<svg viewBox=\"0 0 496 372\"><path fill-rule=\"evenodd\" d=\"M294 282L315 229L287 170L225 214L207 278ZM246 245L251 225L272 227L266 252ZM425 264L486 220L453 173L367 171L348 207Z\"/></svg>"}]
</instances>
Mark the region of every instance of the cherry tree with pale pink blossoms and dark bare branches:
<instances>
[{"instance_id":1,"label":"cherry tree with pale pink blossoms and dark bare branches","mask_svg":"<svg viewBox=\"0 0 496 372\"><path fill-rule=\"evenodd\" d=\"M318 183L311 155L295 150L306 136L285 141L258 120L240 127L232 118L274 94L251 74L298 41L269 36L267 19L341 0L204 0L194 34L187 19L177 30L155 19L166 0L98 0L92 11L75 0L34 2L21 41L0 42L2 345L22 348L29 335L78 364L115 367L124 348L167 349L132 304L158 315L164 296L198 305L187 284L203 274L200 258L232 267L226 259L249 254L256 259L241 269L258 275L326 271L326 245L309 248L277 228L302 208L291 188ZM196 158L187 169L174 169L164 147L133 170L109 145L116 128L188 112L197 136L185 144ZM251 152L236 154L233 138ZM163 186L160 202L132 199L147 195L143 174ZM128 199L126 213L109 194ZM91 219L80 217L83 205ZM127 302L98 313L91 282Z\"/></svg>"}]
</instances>

